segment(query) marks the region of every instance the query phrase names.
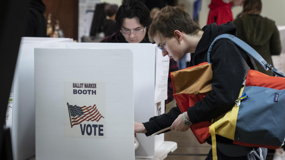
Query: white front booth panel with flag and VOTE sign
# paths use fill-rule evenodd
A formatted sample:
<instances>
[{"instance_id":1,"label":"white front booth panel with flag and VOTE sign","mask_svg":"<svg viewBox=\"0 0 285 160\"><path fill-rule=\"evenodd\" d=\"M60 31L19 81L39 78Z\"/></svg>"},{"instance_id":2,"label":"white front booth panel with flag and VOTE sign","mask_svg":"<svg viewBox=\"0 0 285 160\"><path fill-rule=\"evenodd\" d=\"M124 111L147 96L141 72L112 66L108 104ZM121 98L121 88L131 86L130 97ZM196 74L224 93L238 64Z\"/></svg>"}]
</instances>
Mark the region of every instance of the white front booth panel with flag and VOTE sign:
<instances>
[{"instance_id":1,"label":"white front booth panel with flag and VOTE sign","mask_svg":"<svg viewBox=\"0 0 285 160\"><path fill-rule=\"evenodd\" d=\"M130 49L36 48L36 159L134 159L133 90Z\"/></svg>"}]
</instances>

